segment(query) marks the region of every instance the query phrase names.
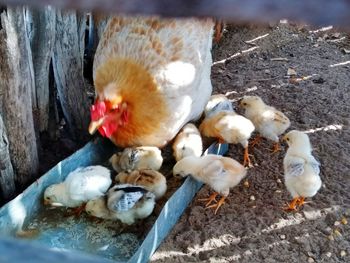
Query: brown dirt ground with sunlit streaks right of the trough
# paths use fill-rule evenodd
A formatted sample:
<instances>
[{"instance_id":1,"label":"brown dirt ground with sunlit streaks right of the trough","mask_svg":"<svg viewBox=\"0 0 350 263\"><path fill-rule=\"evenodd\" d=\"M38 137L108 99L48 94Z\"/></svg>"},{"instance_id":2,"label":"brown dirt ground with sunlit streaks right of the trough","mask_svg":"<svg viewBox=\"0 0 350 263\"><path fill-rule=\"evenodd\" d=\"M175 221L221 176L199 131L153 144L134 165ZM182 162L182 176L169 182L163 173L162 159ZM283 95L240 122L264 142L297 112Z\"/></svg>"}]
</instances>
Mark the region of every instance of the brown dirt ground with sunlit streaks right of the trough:
<instances>
[{"instance_id":1,"label":"brown dirt ground with sunlit streaks right of the trough","mask_svg":"<svg viewBox=\"0 0 350 263\"><path fill-rule=\"evenodd\" d=\"M350 40L336 29L312 30L228 26L213 50L212 80L214 93L233 103L259 95L291 119L291 129L309 132L322 165L319 193L302 210L283 211L291 199L286 146L271 154L263 142L252 152L249 187L232 189L218 215L194 200L151 262L350 262ZM288 78L288 68L297 76ZM242 148L230 146L228 156L241 161ZM208 193L204 187L196 198Z\"/></svg>"}]
</instances>

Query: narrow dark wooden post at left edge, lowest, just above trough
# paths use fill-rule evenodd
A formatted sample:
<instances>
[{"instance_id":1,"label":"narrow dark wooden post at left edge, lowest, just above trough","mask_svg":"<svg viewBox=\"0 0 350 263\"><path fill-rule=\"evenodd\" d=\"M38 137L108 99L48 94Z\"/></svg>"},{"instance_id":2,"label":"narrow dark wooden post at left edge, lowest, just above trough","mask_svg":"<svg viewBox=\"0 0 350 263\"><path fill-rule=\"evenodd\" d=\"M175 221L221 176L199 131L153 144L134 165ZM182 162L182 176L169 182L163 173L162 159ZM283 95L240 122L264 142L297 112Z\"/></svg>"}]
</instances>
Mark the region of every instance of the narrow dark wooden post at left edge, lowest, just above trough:
<instances>
[{"instance_id":1,"label":"narrow dark wooden post at left edge, lowest, just above trough","mask_svg":"<svg viewBox=\"0 0 350 263\"><path fill-rule=\"evenodd\" d=\"M0 197L2 200L9 200L15 194L15 175L10 159L9 141L0 114Z\"/></svg>"}]
</instances>

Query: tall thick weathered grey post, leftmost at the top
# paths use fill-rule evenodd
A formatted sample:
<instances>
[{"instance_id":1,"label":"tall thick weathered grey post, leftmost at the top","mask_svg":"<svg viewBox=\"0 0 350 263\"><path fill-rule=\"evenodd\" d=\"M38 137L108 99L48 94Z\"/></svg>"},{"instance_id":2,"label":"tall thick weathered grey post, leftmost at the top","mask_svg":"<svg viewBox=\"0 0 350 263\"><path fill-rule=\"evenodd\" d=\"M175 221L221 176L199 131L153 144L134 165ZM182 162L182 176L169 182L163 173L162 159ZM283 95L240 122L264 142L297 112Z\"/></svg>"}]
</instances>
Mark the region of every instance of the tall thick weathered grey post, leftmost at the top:
<instances>
[{"instance_id":1,"label":"tall thick weathered grey post, leftmost at the top","mask_svg":"<svg viewBox=\"0 0 350 263\"><path fill-rule=\"evenodd\" d=\"M34 76L25 9L1 14L0 111L4 118L16 183L26 186L38 171L38 152L32 114Z\"/></svg>"}]
</instances>

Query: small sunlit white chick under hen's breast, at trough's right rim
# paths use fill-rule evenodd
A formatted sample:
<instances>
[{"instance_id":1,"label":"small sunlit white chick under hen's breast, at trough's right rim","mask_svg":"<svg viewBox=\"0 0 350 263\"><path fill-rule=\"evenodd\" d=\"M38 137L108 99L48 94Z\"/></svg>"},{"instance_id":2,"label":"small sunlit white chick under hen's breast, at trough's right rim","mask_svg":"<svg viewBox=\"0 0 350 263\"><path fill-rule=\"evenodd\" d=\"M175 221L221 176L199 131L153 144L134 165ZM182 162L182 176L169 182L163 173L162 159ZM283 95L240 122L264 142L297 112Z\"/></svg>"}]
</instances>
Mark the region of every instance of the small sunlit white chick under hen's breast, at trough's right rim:
<instances>
[{"instance_id":1,"label":"small sunlit white chick under hen's breast, at trough's right rim","mask_svg":"<svg viewBox=\"0 0 350 263\"><path fill-rule=\"evenodd\" d=\"M176 161L187 156L201 156L203 142L200 132L192 123L187 123L178 133L173 143L173 154Z\"/></svg>"}]
</instances>

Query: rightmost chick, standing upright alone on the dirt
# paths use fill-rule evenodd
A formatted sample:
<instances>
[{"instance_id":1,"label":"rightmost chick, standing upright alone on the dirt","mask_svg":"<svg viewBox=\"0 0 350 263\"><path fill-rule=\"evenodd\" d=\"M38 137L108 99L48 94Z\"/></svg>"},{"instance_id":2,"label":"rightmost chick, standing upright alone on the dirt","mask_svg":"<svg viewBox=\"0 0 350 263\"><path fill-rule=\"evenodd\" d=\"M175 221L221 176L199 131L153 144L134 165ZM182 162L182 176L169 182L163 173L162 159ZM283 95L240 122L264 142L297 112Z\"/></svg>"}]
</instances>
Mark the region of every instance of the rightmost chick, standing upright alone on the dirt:
<instances>
[{"instance_id":1,"label":"rightmost chick, standing upright alone on the dirt","mask_svg":"<svg viewBox=\"0 0 350 263\"><path fill-rule=\"evenodd\" d=\"M305 197L314 196L321 188L320 163L312 156L309 137L300 131L290 131L284 137L289 146L283 159L284 182L293 197L286 208L295 210Z\"/></svg>"}]
</instances>

